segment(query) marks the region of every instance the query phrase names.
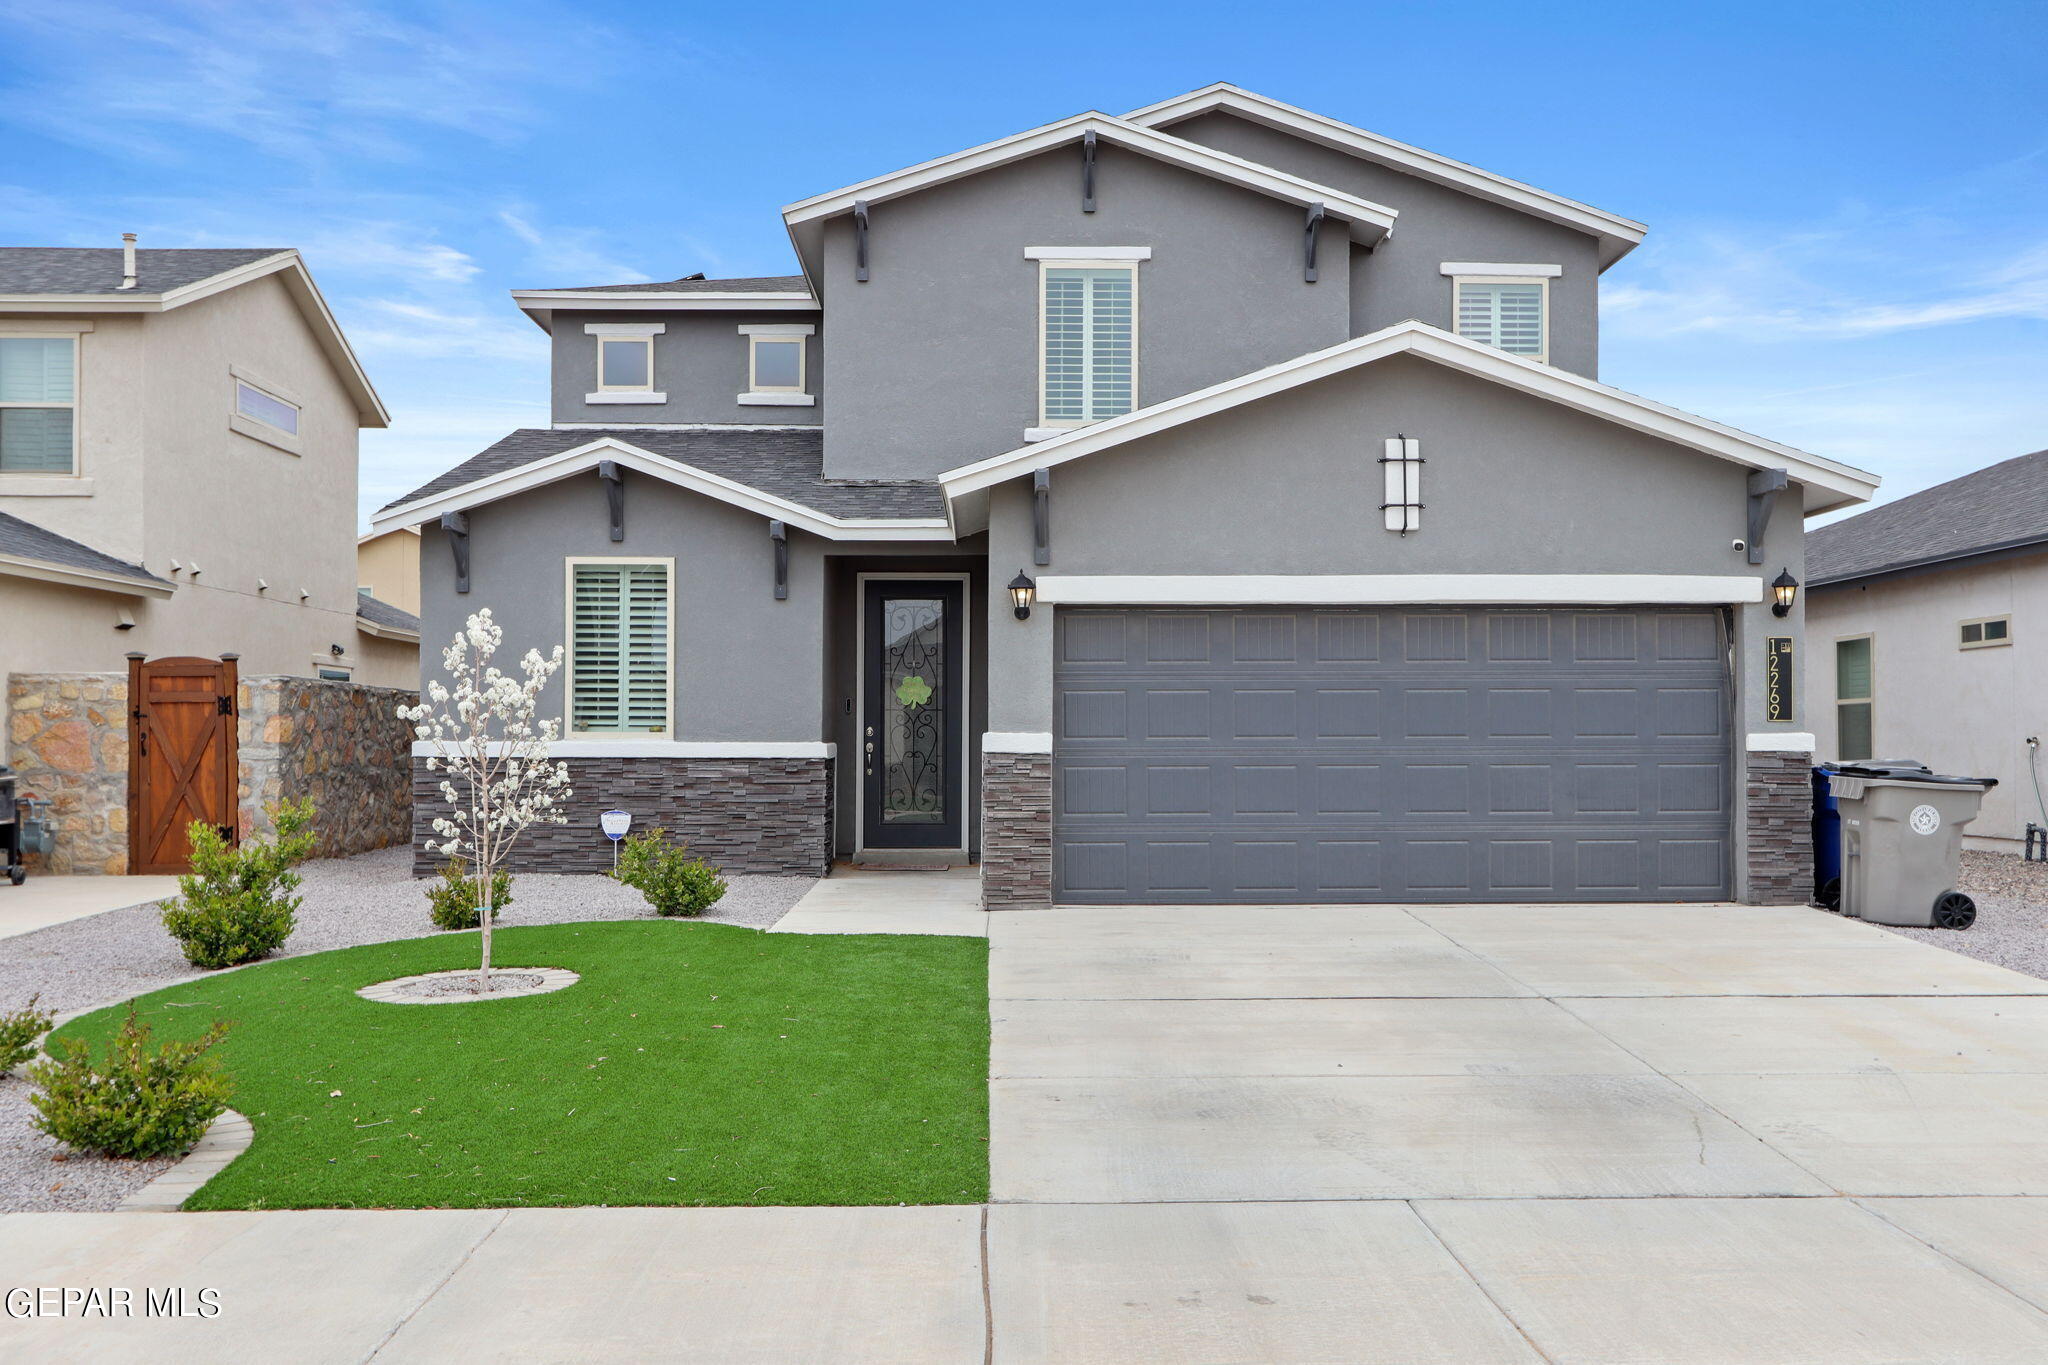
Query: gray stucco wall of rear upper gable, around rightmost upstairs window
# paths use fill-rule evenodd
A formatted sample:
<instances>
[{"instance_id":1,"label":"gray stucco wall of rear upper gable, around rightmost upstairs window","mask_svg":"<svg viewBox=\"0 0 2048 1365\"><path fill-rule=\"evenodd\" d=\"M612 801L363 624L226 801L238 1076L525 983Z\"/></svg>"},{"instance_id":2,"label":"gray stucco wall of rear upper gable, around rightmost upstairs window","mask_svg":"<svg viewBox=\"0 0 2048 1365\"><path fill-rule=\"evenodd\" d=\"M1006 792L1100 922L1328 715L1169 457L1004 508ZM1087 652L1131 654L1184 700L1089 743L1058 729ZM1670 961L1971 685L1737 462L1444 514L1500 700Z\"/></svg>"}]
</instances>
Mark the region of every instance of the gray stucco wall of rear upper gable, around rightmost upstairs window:
<instances>
[{"instance_id":1,"label":"gray stucco wall of rear upper gable, around rightmost upstairs window","mask_svg":"<svg viewBox=\"0 0 2048 1365\"><path fill-rule=\"evenodd\" d=\"M1401 213L1393 237L1370 256L1354 256L1354 336L1409 317L1454 329L1446 260L1548 264L1563 268L1550 280L1550 364L1599 377L1595 237L1227 113L1198 115L1165 131Z\"/></svg>"}]
</instances>

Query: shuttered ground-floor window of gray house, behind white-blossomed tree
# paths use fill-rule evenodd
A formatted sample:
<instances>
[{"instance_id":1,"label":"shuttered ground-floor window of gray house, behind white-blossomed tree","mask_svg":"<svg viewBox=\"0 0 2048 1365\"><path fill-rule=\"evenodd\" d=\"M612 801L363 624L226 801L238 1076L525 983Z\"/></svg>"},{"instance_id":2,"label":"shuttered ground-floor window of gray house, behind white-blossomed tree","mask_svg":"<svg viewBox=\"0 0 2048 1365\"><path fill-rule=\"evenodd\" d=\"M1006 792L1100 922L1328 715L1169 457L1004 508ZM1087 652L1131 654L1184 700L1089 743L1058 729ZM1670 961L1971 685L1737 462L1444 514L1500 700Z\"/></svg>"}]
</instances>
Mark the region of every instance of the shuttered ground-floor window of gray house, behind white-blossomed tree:
<instances>
[{"instance_id":1,"label":"shuttered ground-floor window of gray house, behind white-blossomed tree","mask_svg":"<svg viewBox=\"0 0 2048 1365\"><path fill-rule=\"evenodd\" d=\"M674 559L567 561L567 733L670 735Z\"/></svg>"}]
</instances>

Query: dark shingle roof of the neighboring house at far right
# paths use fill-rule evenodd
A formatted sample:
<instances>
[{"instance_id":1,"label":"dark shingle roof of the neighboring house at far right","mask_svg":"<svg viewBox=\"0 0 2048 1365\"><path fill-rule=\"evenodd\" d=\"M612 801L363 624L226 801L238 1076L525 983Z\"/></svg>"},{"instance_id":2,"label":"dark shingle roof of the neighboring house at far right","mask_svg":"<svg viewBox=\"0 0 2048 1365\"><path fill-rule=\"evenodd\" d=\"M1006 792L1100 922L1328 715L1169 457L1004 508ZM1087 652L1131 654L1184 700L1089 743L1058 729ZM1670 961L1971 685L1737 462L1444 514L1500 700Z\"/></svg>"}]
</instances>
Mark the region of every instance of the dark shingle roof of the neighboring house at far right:
<instances>
[{"instance_id":1,"label":"dark shingle roof of the neighboring house at far right","mask_svg":"<svg viewBox=\"0 0 2048 1365\"><path fill-rule=\"evenodd\" d=\"M1841 583L2030 542L2048 542L2048 450L1806 532L1806 579Z\"/></svg>"}]
</instances>

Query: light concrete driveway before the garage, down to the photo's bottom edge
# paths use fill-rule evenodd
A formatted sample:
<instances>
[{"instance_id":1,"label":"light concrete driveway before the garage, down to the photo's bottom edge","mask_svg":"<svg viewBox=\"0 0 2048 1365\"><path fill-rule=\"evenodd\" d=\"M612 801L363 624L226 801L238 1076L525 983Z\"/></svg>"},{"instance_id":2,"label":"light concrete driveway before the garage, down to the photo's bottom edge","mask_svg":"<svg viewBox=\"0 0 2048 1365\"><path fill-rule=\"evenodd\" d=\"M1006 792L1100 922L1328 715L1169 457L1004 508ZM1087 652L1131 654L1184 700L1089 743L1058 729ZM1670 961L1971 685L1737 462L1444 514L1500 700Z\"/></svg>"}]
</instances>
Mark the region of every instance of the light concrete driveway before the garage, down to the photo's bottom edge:
<instances>
[{"instance_id":1,"label":"light concrete driveway before the garage, down to the photo's bottom edge","mask_svg":"<svg viewBox=\"0 0 2048 1365\"><path fill-rule=\"evenodd\" d=\"M1804 909L1071 909L989 990L995 1359L2048 1359L2044 980Z\"/></svg>"}]
</instances>

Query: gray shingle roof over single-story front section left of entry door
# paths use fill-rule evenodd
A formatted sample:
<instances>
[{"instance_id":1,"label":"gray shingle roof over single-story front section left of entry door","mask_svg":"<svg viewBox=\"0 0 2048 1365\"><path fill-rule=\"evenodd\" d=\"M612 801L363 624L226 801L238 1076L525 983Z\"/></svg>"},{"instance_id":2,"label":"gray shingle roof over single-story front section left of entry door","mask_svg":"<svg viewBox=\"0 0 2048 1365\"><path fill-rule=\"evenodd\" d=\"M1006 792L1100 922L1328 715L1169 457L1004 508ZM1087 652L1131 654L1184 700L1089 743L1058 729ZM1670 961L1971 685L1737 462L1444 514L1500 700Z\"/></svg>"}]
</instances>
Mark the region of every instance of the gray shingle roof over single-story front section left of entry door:
<instances>
[{"instance_id":1,"label":"gray shingle roof over single-story front section left of entry door","mask_svg":"<svg viewBox=\"0 0 2048 1365\"><path fill-rule=\"evenodd\" d=\"M772 493L842 518L934 518L946 516L946 499L936 481L872 481L872 479L827 479L825 436L817 428L805 430L647 430L647 428L526 428L512 432L492 448L469 456L438 479L416 487L383 510L397 508L434 493L459 489L465 483L502 475L522 465L532 465L551 454L588 446L594 440L618 440L657 454L678 465L692 465L707 473L743 483L750 489Z\"/></svg>"}]
</instances>

